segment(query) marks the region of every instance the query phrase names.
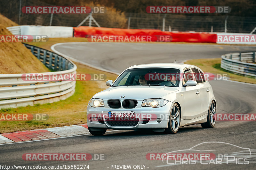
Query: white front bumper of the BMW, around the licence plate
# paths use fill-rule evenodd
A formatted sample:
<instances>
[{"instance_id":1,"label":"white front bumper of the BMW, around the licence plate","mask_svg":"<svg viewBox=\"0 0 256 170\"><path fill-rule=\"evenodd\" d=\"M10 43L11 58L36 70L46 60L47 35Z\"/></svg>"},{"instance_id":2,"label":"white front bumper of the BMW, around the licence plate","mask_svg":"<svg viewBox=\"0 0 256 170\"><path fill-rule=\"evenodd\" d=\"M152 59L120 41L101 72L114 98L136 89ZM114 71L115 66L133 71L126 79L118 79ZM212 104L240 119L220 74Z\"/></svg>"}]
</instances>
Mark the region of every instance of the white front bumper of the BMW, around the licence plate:
<instances>
[{"instance_id":1,"label":"white front bumper of the BMW, around the licence plate","mask_svg":"<svg viewBox=\"0 0 256 170\"><path fill-rule=\"evenodd\" d=\"M107 102L104 101L105 107L91 107L88 105L87 107L87 125L90 128L106 128L106 129L117 129L117 130L132 130L132 129L163 129L168 127L168 122L169 122L169 116L170 116L170 111L172 108L173 103L168 102L166 105L162 107L141 107L142 101L139 100L137 107L132 108L132 109L124 109L124 108L119 108L119 109L113 109L109 108L107 105ZM143 118L140 117L138 123L134 126L111 126L109 125L106 117L108 115L108 112L134 112L135 115L150 115L151 119L146 123L143 123ZM89 116L88 116L89 115ZM94 115L94 116L92 116ZM89 117L101 117L100 120L104 121L103 123L100 123L97 118L92 119L92 122L89 120ZM157 122L156 118L161 118L161 122ZM126 119L127 120L127 119ZM123 120L120 120L123 121Z\"/></svg>"}]
</instances>

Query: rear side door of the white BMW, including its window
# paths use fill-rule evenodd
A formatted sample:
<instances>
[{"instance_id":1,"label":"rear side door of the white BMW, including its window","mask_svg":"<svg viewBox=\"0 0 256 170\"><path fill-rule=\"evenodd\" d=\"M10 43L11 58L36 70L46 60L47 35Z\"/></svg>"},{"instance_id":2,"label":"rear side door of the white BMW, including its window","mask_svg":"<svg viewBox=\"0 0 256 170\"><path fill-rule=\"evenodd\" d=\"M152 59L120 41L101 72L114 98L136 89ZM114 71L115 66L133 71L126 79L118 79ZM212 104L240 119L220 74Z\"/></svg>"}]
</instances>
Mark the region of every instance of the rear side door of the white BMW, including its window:
<instances>
[{"instance_id":1,"label":"rear side door of the white BMW, including its window","mask_svg":"<svg viewBox=\"0 0 256 170\"><path fill-rule=\"evenodd\" d=\"M200 111L198 112L198 115L197 115L197 117L200 117L207 113L208 104L210 100L210 94L209 94L210 87L205 82L205 78L202 71L194 67L191 67L191 70L197 82L196 86L198 86L199 92L200 92Z\"/></svg>"}]
</instances>

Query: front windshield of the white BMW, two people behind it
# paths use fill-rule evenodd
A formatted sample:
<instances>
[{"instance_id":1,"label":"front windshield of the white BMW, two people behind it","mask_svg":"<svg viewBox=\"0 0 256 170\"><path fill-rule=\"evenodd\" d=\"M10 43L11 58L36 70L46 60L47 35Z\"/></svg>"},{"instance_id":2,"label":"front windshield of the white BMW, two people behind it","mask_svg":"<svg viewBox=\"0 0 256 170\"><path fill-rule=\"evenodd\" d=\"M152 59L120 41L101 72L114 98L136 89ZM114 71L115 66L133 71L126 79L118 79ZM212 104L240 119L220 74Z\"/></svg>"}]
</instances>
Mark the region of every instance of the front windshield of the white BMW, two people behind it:
<instances>
[{"instance_id":1,"label":"front windshield of the white BMW, two people behind it","mask_svg":"<svg viewBox=\"0 0 256 170\"><path fill-rule=\"evenodd\" d=\"M172 68L129 69L117 78L112 87L130 85L154 85L178 87L180 70Z\"/></svg>"}]
</instances>

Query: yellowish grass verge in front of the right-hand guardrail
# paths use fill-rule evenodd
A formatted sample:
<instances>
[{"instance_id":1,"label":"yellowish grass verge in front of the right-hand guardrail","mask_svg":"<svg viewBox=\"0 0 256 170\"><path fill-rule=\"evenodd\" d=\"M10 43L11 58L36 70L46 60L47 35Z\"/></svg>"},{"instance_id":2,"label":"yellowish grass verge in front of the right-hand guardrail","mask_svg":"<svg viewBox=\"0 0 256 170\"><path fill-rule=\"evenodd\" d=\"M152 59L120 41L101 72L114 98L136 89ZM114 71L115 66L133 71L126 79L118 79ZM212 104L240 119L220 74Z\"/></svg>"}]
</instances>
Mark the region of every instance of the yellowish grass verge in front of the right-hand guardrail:
<instances>
[{"instance_id":1,"label":"yellowish grass verge in front of the right-hand guardrail","mask_svg":"<svg viewBox=\"0 0 256 170\"><path fill-rule=\"evenodd\" d=\"M192 64L201 68L204 72L210 72L213 74L228 74L230 80L240 81L245 83L256 84L255 78L244 77L231 73L220 67L221 58L208 58L208 59L194 59L184 62L185 64Z\"/></svg>"}]
</instances>

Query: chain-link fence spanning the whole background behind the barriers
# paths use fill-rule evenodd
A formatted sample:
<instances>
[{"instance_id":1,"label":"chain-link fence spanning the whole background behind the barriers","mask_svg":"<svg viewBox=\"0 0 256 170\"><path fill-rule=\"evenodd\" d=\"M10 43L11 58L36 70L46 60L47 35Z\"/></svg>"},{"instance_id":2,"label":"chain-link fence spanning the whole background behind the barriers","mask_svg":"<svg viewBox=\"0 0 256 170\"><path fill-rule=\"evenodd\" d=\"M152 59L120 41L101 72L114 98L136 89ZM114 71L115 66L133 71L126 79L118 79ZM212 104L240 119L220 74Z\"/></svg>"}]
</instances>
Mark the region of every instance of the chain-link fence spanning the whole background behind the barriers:
<instances>
[{"instance_id":1,"label":"chain-link fence spanning the whole background behind the barriers","mask_svg":"<svg viewBox=\"0 0 256 170\"><path fill-rule=\"evenodd\" d=\"M23 6L51 6L37 0L0 0L0 13L20 25L78 26L89 14L24 14ZM160 29L165 31L203 31L251 33L256 27L256 17L236 17L229 14L150 14L125 13L117 19L115 13L94 13L92 17L101 27L130 29ZM122 24L120 23L122 18ZM83 26L89 25L89 19ZM92 26L96 26L92 22ZM255 31L256 32L256 31ZM255 33L254 32L254 33Z\"/></svg>"}]
</instances>

